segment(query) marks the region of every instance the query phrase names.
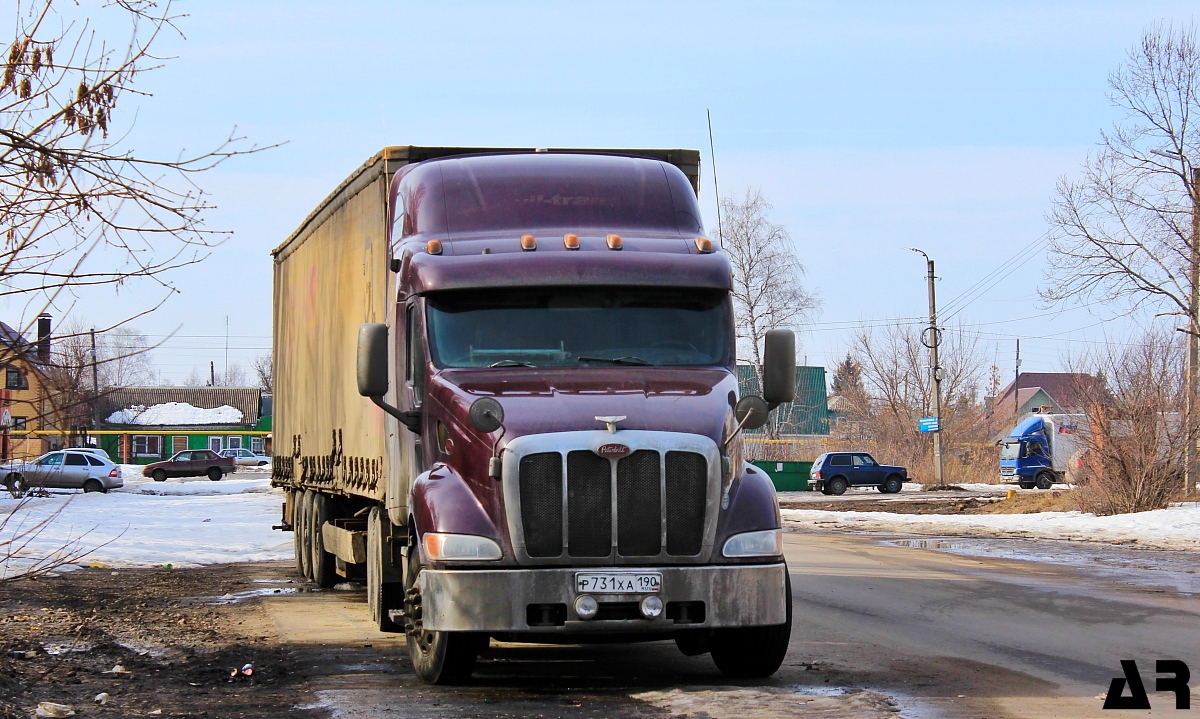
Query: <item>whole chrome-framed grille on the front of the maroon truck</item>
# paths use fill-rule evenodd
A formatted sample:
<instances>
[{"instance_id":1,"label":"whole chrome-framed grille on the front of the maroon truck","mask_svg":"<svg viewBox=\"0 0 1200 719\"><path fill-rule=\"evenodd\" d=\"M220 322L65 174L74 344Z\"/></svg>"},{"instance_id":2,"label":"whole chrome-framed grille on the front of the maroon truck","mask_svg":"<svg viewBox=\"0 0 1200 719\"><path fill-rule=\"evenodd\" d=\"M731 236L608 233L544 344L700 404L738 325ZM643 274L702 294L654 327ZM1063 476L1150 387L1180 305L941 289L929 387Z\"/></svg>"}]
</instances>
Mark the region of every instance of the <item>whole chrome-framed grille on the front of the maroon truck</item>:
<instances>
[{"instance_id":1,"label":"whole chrome-framed grille on the front of the maroon truck","mask_svg":"<svg viewBox=\"0 0 1200 719\"><path fill-rule=\"evenodd\" d=\"M630 454L604 457L623 444ZM576 431L517 437L504 450L503 491L522 564L694 564L713 552L720 449L676 432Z\"/></svg>"}]
</instances>

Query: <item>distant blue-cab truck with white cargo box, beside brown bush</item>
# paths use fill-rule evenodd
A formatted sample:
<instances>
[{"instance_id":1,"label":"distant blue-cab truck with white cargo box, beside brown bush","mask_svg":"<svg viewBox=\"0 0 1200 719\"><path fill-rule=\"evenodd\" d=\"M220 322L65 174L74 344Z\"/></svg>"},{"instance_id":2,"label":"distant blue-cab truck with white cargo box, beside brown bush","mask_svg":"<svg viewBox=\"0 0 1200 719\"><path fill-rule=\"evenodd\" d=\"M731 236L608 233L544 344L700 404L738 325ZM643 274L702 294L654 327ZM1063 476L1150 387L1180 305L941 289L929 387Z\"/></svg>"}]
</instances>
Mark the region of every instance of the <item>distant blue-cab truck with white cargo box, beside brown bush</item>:
<instances>
[{"instance_id":1,"label":"distant blue-cab truck with white cargo box, beside brown bush","mask_svg":"<svg viewBox=\"0 0 1200 719\"><path fill-rule=\"evenodd\" d=\"M1079 433L1086 426L1082 414L1026 417L1000 443L1001 481L1022 490L1049 490L1064 481L1068 467L1079 461Z\"/></svg>"}]
</instances>

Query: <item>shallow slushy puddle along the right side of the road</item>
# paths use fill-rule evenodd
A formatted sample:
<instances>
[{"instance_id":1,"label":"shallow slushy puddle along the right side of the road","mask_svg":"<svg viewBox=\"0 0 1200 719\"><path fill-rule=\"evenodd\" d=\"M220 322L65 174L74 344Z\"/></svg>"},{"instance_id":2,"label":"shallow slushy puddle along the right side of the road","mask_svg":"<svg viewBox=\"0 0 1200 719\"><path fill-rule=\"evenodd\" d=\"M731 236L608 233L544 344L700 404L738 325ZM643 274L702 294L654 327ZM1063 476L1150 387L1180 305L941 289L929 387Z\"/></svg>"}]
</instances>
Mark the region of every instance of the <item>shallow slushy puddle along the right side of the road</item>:
<instances>
[{"instance_id":1,"label":"shallow slushy puddle along the right side of the road","mask_svg":"<svg viewBox=\"0 0 1200 719\"><path fill-rule=\"evenodd\" d=\"M1181 594L1200 594L1200 558L1195 552L1046 539L966 537L888 539L883 544L964 557L1061 564L1124 585L1165 587Z\"/></svg>"}]
</instances>

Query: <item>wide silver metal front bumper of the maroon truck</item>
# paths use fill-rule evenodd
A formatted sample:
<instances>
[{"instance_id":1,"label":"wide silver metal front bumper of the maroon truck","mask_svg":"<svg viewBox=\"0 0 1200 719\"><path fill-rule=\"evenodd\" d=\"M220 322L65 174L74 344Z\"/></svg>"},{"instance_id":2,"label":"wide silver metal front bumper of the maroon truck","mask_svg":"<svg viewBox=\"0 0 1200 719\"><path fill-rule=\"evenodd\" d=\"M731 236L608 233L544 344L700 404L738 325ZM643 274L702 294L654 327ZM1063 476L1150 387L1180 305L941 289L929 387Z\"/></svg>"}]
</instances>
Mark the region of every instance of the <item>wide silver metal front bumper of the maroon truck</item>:
<instances>
[{"instance_id":1,"label":"wide silver metal front bumper of the maroon truck","mask_svg":"<svg viewBox=\"0 0 1200 719\"><path fill-rule=\"evenodd\" d=\"M767 627L787 621L784 594L787 568L782 563L648 567L642 570L662 575L659 597L667 611L661 616L655 619L580 619L572 606L575 574L598 569L422 569L419 575L422 623L433 631L630 634ZM619 570L638 571L638 568L620 567ZM644 595L593 597L605 605L638 601ZM674 603L703 603L703 621L696 621L695 611L685 622L672 618ZM530 625L530 605L563 605L565 621L556 625Z\"/></svg>"}]
</instances>

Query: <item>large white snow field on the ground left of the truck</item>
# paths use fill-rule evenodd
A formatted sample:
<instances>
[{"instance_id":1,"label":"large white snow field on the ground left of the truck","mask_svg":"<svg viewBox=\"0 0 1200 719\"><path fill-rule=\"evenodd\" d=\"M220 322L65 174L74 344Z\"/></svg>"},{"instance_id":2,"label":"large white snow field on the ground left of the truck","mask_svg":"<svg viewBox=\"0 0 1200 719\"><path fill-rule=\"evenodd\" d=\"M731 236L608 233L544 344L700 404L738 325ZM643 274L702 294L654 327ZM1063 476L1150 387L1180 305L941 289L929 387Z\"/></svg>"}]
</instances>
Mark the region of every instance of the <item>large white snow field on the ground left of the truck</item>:
<instances>
[{"instance_id":1,"label":"large white snow field on the ground left of the truck","mask_svg":"<svg viewBox=\"0 0 1200 719\"><path fill-rule=\"evenodd\" d=\"M0 529L0 547L20 527L61 510L29 543L24 556L44 556L73 543L76 555L91 551L82 564L113 568L292 559L292 534L271 529L280 521L283 492L272 489L265 474L166 483L126 477L125 483L107 495L62 493L28 501ZM18 501L0 499L0 522L17 508ZM8 564L12 571L22 561ZM5 571L0 555L0 577Z\"/></svg>"}]
</instances>

